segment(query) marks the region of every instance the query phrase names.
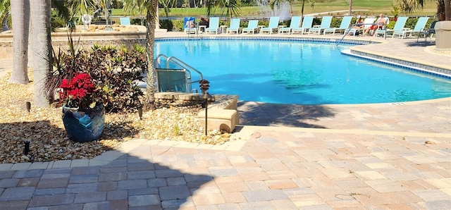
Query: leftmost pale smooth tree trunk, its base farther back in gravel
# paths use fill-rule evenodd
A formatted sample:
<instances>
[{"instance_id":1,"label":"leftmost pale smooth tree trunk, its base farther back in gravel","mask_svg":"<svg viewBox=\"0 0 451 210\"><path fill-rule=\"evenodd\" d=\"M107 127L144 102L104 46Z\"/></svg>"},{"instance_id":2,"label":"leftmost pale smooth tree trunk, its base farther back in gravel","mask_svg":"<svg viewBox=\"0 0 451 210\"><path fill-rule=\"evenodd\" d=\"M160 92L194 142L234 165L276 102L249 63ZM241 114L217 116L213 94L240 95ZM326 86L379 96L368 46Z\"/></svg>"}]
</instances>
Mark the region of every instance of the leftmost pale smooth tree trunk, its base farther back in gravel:
<instances>
[{"instance_id":1,"label":"leftmost pale smooth tree trunk, its base farther back in gravel","mask_svg":"<svg viewBox=\"0 0 451 210\"><path fill-rule=\"evenodd\" d=\"M28 32L30 27L30 0L11 1L13 19L13 72L9 82L27 84Z\"/></svg>"}]
</instances>

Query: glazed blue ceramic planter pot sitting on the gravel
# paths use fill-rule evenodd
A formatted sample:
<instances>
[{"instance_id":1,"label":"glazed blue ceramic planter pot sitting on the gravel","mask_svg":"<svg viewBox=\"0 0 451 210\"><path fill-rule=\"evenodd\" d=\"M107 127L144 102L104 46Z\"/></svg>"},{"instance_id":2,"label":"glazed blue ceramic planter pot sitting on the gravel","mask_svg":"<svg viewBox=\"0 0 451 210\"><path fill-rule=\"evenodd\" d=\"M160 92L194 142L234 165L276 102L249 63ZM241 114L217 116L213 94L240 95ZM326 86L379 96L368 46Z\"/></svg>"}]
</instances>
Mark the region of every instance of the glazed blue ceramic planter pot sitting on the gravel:
<instances>
[{"instance_id":1,"label":"glazed blue ceramic planter pot sitting on the gravel","mask_svg":"<svg viewBox=\"0 0 451 210\"><path fill-rule=\"evenodd\" d=\"M105 128L105 109L103 105L93 109L78 110L63 106L64 128L71 140L90 142L99 139Z\"/></svg>"}]
</instances>

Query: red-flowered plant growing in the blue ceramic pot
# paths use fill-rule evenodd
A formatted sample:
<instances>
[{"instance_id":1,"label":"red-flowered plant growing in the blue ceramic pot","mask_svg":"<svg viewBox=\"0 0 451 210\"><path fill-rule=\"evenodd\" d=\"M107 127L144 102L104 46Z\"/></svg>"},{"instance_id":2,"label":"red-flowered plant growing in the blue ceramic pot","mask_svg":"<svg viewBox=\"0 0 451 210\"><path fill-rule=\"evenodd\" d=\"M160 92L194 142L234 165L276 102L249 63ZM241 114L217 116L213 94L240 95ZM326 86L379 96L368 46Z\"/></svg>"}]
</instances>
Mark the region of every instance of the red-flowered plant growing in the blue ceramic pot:
<instances>
[{"instance_id":1,"label":"red-flowered plant growing in the blue ceramic pot","mask_svg":"<svg viewBox=\"0 0 451 210\"><path fill-rule=\"evenodd\" d=\"M97 88L88 73L76 73L70 80L61 81L60 99L66 101L70 108L88 109L94 108L97 101Z\"/></svg>"}]
</instances>

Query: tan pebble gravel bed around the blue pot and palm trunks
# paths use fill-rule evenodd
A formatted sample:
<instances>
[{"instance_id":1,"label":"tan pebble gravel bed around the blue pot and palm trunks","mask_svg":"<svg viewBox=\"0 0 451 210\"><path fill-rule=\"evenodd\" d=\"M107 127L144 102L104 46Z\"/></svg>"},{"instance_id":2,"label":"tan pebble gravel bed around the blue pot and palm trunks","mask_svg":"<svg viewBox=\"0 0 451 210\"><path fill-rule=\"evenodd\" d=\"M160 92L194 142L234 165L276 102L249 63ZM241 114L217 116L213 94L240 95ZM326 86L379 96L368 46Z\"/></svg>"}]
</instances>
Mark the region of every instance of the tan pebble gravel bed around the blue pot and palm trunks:
<instances>
[{"instance_id":1,"label":"tan pebble gravel bed around the blue pot and palm trunks","mask_svg":"<svg viewBox=\"0 0 451 210\"><path fill-rule=\"evenodd\" d=\"M31 72L31 70L29 70ZM105 130L99 140L73 142L66 135L61 107L26 109L33 101L33 83L8 83L11 73L0 77L0 163L92 159L132 138L223 144L233 138L217 130L204 135L195 117L199 105L180 106L180 101L159 101L155 111L107 113ZM32 79L32 73L29 74ZM24 155L24 141L30 152Z\"/></svg>"}]
</instances>

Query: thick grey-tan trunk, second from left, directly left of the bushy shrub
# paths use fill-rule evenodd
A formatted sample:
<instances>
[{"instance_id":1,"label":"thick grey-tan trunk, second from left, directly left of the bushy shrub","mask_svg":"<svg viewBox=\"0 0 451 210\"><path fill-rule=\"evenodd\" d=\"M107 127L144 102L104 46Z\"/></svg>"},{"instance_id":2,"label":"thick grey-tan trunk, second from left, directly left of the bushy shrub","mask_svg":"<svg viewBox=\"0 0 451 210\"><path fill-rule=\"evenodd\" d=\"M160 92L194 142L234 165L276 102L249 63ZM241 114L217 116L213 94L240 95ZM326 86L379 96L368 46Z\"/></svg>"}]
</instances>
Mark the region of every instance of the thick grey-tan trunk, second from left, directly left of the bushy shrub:
<instances>
[{"instance_id":1,"label":"thick grey-tan trunk, second from left, directly left of the bushy shrub","mask_svg":"<svg viewBox=\"0 0 451 210\"><path fill-rule=\"evenodd\" d=\"M44 87L47 74L51 69L50 11L51 0L30 1L32 19L32 54L33 54L33 101L35 106L49 107Z\"/></svg>"}]
</instances>

